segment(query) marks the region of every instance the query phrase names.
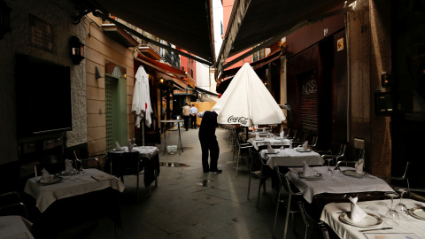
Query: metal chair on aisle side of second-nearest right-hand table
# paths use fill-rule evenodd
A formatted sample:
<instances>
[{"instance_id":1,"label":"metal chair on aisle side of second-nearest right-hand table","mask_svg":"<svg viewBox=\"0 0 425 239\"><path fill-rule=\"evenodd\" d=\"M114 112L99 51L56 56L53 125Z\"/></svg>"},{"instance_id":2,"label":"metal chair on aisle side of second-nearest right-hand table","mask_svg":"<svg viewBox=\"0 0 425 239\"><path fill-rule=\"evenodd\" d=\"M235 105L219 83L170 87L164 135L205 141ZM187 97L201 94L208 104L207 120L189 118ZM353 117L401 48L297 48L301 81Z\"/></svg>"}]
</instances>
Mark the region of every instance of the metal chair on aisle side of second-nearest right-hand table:
<instances>
[{"instance_id":1,"label":"metal chair on aisle side of second-nearest right-hand table","mask_svg":"<svg viewBox=\"0 0 425 239\"><path fill-rule=\"evenodd\" d=\"M273 227L273 235L276 232L276 224L277 224L277 214L279 212L279 204L285 204L286 203L286 219L285 219L285 229L283 231L283 239L286 239L286 235L288 232L288 222L290 219L290 213L292 214L292 220L294 220L293 217L293 213L297 213L299 212L298 207L296 206L296 204L294 204L292 202L292 197L301 197L303 194L301 192L296 192L295 189L293 190L290 184L290 181L288 179L288 177L286 177L286 175L282 174L279 171L279 167L275 166L274 167L276 173L277 173L277 178L279 179L279 188L277 191L277 200L276 200L276 208L274 210L274 227ZM281 189L285 189L285 191L288 192L288 198L285 199L281 199ZM305 230L307 229L307 227L305 226Z\"/></svg>"}]
</instances>

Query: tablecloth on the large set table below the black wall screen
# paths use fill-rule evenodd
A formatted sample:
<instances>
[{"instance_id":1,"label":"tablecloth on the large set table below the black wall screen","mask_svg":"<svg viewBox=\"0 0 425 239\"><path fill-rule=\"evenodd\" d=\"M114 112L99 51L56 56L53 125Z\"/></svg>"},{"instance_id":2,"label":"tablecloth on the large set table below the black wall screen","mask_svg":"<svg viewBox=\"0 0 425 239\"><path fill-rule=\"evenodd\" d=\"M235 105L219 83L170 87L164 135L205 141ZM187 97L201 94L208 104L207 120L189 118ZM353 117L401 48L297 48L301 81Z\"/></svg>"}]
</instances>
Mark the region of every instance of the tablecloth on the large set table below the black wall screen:
<instances>
[{"instance_id":1,"label":"tablecloth on the large set table below the black wall screen","mask_svg":"<svg viewBox=\"0 0 425 239\"><path fill-rule=\"evenodd\" d=\"M63 176L63 180L56 184L42 185L38 183L41 176L27 180L24 191L35 198L36 207L44 212L50 204L56 200L86 194L93 191L112 188L124 191L124 184L117 178L111 180L97 181L92 175L111 176L95 168L84 170L84 173Z\"/></svg>"}]
</instances>

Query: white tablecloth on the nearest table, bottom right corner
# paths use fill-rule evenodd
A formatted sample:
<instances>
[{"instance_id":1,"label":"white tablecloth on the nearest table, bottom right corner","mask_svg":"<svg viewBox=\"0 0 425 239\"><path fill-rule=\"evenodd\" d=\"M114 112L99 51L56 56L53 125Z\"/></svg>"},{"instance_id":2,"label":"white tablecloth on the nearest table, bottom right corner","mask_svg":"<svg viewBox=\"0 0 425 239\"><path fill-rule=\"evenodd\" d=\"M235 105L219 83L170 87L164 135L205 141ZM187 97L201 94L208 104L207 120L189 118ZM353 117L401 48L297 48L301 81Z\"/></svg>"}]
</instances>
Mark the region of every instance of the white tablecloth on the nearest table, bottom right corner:
<instances>
[{"instance_id":1,"label":"white tablecloth on the nearest table, bottom right corner","mask_svg":"<svg viewBox=\"0 0 425 239\"><path fill-rule=\"evenodd\" d=\"M378 202L384 202L387 206L390 206L391 200L381 200L381 201L367 201L367 202L359 202L357 203L359 207L365 212L373 213L376 216L379 216L381 219L385 220L385 213L388 211L387 206L383 206L377 204ZM394 199L394 206L398 204L399 199ZM407 208L412 207L425 207L425 203L421 203L418 201L414 201L412 199L403 199L403 203L406 204ZM367 207L375 207L378 211L369 210ZM407 220L400 220L400 225L398 227L388 226L383 222L379 226L375 227L354 227L339 220L339 216L341 213L337 212L350 212L350 203L331 203L327 204L323 211L321 212L321 220L323 220L329 227L331 227L341 238L344 239L358 239L358 238L366 238L366 233L414 233L421 238L425 238L425 220L418 220L413 218L412 216L408 216ZM381 228L381 227L392 227L389 230L379 230L379 231L370 231L360 233L361 229L368 228ZM405 238L405 237L398 237Z\"/></svg>"}]
</instances>

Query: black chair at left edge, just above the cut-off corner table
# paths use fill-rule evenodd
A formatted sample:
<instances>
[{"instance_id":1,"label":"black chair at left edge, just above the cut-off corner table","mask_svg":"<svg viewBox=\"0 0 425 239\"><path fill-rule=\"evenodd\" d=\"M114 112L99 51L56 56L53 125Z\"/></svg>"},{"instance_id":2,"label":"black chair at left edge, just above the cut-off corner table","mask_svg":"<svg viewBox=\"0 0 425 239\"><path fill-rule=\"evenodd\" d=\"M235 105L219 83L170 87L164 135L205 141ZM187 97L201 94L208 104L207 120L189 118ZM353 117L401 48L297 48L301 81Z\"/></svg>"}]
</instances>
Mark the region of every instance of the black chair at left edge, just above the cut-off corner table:
<instances>
[{"instance_id":1,"label":"black chair at left edge, just above the cut-off corner table","mask_svg":"<svg viewBox=\"0 0 425 239\"><path fill-rule=\"evenodd\" d=\"M0 194L0 216L19 215L28 219L27 206L16 191Z\"/></svg>"}]
</instances>

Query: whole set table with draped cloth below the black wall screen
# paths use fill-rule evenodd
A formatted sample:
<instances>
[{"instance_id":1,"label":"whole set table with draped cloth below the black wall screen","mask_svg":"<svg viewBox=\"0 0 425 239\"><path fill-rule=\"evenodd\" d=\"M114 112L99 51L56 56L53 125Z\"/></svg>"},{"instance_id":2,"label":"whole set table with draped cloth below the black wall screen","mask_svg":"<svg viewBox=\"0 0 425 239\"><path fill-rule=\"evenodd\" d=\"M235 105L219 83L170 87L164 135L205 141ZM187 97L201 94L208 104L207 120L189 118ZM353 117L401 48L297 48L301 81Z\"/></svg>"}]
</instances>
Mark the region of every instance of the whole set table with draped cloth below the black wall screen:
<instances>
[{"instance_id":1,"label":"whole set table with draped cloth below the black wall screen","mask_svg":"<svg viewBox=\"0 0 425 239\"><path fill-rule=\"evenodd\" d=\"M39 210L32 220L35 238L53 238L60 230L104 216L122 227L120 193L124 184L118 178L94 168L61 177L62 181L50 185L40 184L40 176L27 180L24 192L35 198Z\"/></svg>"}]
</instances>

